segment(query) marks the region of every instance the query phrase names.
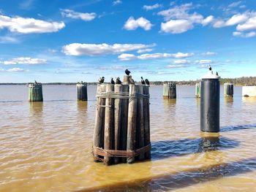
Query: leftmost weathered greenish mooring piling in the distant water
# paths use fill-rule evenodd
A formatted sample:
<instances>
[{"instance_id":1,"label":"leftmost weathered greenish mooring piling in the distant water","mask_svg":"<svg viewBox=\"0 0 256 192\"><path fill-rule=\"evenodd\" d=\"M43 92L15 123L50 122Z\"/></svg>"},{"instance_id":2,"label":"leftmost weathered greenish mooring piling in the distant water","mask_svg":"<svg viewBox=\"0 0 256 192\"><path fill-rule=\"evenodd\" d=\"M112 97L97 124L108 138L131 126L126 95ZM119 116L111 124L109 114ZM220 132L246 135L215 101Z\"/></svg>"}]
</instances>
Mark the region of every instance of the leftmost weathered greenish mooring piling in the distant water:
<instances>
[{"instance_id":1,"label":"leftmost weathered greenish mooring piling in the distant water","mask_svg":"<svg viewBox=\"0 0 256 192\"><path fill-rule=\"evenodd\" d=\"M29 101L42 101L42 83L29 82Z\"/></svg>"}]
</instances>

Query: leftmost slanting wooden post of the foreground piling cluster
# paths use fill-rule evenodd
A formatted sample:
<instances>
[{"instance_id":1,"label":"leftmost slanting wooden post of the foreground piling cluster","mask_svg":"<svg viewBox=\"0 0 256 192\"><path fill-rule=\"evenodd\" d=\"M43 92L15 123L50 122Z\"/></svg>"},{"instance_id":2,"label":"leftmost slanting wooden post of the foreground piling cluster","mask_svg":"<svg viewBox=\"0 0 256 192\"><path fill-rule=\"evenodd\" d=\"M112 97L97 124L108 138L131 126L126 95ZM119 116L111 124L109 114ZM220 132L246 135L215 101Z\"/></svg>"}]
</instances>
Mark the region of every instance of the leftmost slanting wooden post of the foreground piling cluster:
<instances>
[{"instance_id":1,"label":"leftmost slanting wooden post of the foreground piling cluster","mask_svg":"<svg viewBox=\"0 0 256 192\"><path fill-rule=\"evenodd\" d=\"M97 85L97 94L105 93L106 85ZM95 127L94 127L94 147L104 147L104 129L105 129L105 98L97 97L97 108L95 117ZM98 155L94 155L95 158L99 158ZM97 159L96 159L97 161Z\"/></svg>"}]
</instances>

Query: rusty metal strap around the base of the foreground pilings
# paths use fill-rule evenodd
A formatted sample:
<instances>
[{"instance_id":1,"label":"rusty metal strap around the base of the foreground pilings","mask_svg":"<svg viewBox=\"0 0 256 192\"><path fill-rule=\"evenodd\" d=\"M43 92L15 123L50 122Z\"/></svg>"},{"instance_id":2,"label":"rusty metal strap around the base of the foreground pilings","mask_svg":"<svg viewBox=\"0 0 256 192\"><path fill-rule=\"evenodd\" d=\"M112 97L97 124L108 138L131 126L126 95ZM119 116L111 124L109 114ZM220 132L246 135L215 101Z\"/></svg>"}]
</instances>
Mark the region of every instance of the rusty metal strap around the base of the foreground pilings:
<instances>
[{"instance_id":1,"label":"rusty metal strap around the base of the foreground pilings","mask_svg":"<svg viewBox=\"0 0 256 192\"><path fill-rule=\"evenodd\" d=\"M132 158L138 156L140 154L146 153L151 150L151 144L146 145L145 147L141 147L138 150L104 150L99 147L94 147L93 152L94 158L95 155L103 156L103 157L123 157L123 158ZM97 160L102 160L101 158L96 158Z\"/></svg>"}]
</instances>

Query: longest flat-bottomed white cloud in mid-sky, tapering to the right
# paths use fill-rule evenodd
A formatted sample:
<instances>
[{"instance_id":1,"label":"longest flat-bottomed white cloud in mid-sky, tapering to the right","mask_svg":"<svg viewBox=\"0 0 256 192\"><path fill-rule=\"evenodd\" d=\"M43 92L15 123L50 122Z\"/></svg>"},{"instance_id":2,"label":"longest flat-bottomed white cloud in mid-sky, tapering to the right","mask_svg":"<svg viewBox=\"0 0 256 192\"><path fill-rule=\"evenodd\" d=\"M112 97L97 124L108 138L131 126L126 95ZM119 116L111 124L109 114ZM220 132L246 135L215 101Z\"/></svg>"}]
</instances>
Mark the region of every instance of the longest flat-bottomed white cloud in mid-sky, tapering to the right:
<instances>
[{"instance_id":1,"label":"longest flat-bottomed white cloud in mid-sky, tapering to the right","mask_svg":"<svg viewBox=\"0 0 256 192\"><path fill-rule=\"evenodd\" d=\"M148 47L154 47L156 44L143 45L143 44L80 44L72 43L62 47L62 51L66 55L108 55L124 53L131 50L140 50Z\"/></svg>"}]
</instances>

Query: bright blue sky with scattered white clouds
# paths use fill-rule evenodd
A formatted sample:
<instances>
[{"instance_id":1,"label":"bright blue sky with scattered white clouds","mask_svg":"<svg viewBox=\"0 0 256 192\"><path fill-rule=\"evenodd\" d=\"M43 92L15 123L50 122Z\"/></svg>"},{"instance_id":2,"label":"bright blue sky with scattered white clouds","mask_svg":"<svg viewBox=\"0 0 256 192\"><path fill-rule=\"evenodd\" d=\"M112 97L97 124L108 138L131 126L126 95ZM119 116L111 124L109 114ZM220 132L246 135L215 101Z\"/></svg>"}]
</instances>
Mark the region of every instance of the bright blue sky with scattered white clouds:
<instances>
[{"instance_id":1,"label":"bright blue sky with scattered white clouds","mask_svg":"<svg viewBox=\"0 0 256 192\"><path fill-rule=\"evenodd\" d=\"M255 64L255 0L0 4L0 82L198 80L208 65L246 77Z\"/></svg>"}]
</instances>

